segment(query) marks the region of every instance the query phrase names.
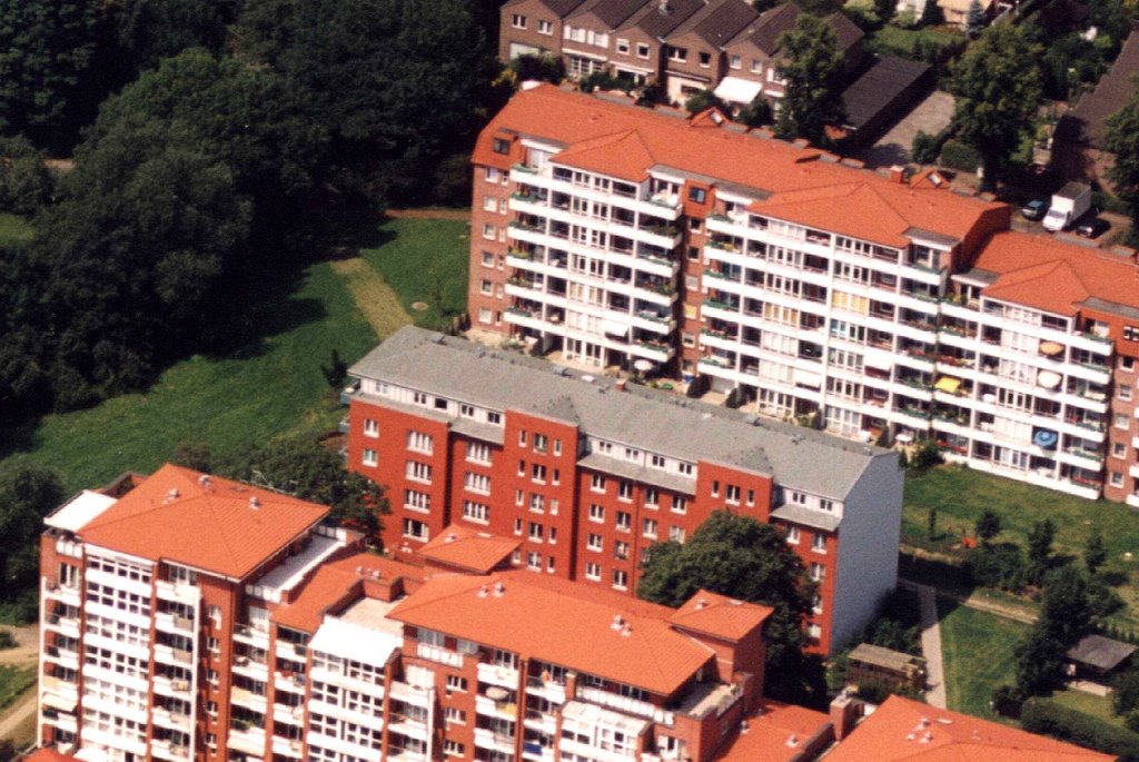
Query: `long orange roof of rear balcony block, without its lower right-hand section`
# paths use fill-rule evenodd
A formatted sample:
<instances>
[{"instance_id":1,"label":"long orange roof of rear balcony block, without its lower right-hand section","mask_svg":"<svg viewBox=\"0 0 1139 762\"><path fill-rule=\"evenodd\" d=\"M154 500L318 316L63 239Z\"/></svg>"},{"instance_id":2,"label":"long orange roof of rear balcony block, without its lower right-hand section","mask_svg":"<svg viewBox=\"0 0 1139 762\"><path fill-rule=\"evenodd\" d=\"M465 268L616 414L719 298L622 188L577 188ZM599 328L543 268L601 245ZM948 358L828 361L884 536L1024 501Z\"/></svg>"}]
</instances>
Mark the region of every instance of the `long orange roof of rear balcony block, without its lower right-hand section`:
<instances>
[{"instance_id":1,"label":"long orange roof of rear balcony block, without its lower right-hand section","mask_svg":"<svg viewBox=\"0 0 1139 762\"><path fill-rule=\"evenodd\" d=\"M654 166L671 167L754 188L765 195L760 207L772 216L891 246L903 243L909 228L961 239L983 213L1005 207L952 192L947 182L927 182L928 173L910 183L893 181L821 161L822 151L813 148L715 126L705 116L689 121L539 84L498 113L474 161L507 169L510 159L492 150L492 139L532 136L564 146L551 159L556 164L632 182Z\"/></svg>"}]
</instances>

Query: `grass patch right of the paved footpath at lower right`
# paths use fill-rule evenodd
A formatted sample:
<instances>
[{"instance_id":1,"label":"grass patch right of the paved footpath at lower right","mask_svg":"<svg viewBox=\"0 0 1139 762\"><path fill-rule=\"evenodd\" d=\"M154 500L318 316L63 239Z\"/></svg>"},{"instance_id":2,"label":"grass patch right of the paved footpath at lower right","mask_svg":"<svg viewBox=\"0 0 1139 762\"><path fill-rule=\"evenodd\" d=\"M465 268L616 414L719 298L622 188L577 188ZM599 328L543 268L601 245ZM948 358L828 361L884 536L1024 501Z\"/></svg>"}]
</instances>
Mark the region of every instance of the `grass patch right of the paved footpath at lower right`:
<instances>
[{"instance_id":1,"label":"grass patch right of the paved footpath at lower right","mask_svg":"<svg viewBox=\"0 0 1139 762\"><path fill-rule=\"evenodd\" d=\"M1013 682L1013 648L1029 625L944 600L937 614L949 708L991 718L989 698L993 688Z\"/></svg>"}]
</instances>

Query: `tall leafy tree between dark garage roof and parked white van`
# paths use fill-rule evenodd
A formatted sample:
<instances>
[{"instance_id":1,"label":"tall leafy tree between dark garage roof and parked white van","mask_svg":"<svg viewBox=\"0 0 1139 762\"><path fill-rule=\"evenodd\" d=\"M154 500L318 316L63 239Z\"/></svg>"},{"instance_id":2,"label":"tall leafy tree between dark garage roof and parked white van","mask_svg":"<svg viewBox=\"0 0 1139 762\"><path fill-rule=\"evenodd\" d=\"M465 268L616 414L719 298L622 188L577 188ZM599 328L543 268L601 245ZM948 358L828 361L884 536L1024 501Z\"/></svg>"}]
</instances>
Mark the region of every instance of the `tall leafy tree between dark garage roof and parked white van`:
<instances>
[{"instance_id":1,"label":"tall leafy tree between dark garage roof and parked white van","mask_svg":"<svg viewBox=\"0 0 1139 762\"><path fill-rule=\"evenodd\" d=\"M1040 46L1015 24L988 30L951 67L950 91L957 96L953 118L958 139L981 154L983 181L997 177L1032 130L1041 97Z\"/></svg>"}]
</instances>

